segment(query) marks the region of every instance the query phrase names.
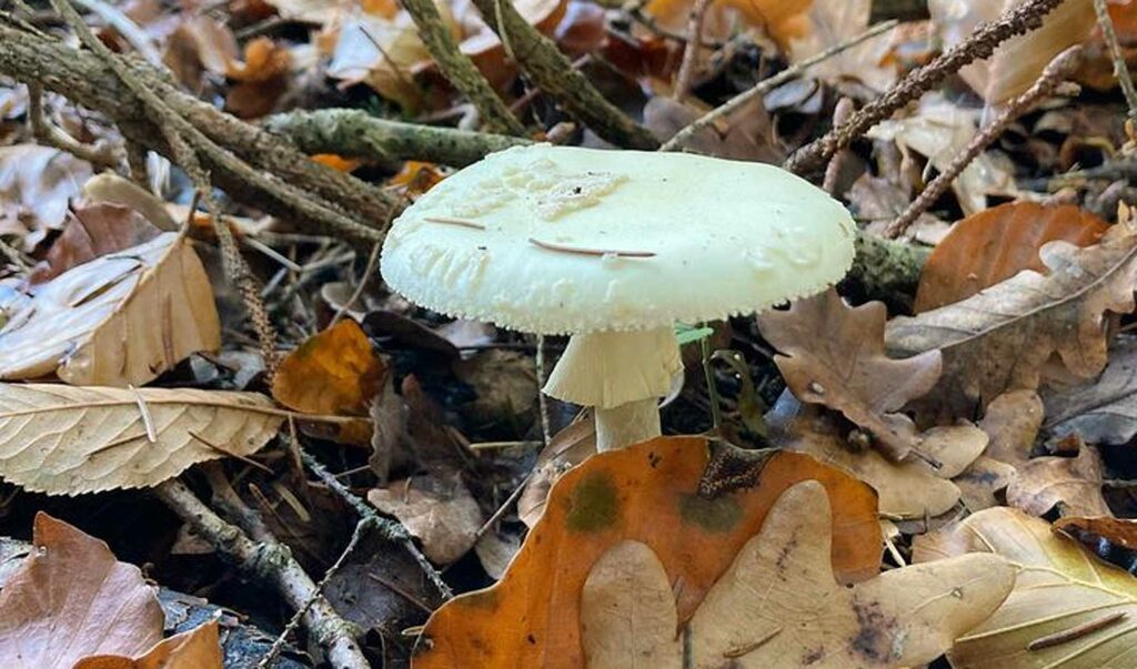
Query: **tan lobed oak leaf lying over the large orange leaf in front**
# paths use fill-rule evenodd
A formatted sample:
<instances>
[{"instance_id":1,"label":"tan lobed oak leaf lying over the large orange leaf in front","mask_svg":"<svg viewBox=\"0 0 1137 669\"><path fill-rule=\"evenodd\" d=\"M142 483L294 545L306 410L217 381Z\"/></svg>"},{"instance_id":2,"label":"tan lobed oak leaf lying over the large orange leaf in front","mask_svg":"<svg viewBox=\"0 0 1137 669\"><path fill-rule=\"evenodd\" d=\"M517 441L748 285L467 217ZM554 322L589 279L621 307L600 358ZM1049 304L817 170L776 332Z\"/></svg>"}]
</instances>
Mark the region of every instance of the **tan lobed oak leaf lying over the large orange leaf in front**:
<instances>
[{"instance_id":1,"label":"tan lobed oak leaf lying over the large orange leaf in front","mask_svg":"<svg viewBox=\"0 0 1137 669\"><path fill-rule=\"evenodd\" d=\"M587 666L911 667L982 622L1014 584L1006 561L964 555L843 587L825 559L831 533L821 484L787 490L681 635L659 559L644 543L616 544L581 595Z\"/></svg>"}]
</instances>

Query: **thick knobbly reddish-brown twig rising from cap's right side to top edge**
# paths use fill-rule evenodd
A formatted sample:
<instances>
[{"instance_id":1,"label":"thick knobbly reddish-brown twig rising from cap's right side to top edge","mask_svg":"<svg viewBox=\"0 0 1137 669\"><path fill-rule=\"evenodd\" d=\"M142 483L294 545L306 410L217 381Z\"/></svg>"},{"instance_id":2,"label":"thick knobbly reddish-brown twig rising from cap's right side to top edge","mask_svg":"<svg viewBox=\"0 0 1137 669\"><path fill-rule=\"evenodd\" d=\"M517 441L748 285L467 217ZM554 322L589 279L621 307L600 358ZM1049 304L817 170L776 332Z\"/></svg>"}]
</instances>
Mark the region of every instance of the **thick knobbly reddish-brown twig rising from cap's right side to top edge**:
<instances>
[{"instance_id":1,"label":"thick knobbly reddish-brown twig rising from cap's right side to top edge","mask_svg":"<svg viewBox=\"0 0 1137 669\"><path fill-rule=\"evenodd\" d=\"M848 123L798 149L783 167L795 174L821 169L839 149L848 147L869 128L923 95L948 75L974 60L989 58L1003 42L1043 25L1043 18L1062 2L1063 0L1026 0L1009 9L998 20L980 24L970 37L928 65L911 72L883 95L865 104Z\"/></svg>"}]
</instances>

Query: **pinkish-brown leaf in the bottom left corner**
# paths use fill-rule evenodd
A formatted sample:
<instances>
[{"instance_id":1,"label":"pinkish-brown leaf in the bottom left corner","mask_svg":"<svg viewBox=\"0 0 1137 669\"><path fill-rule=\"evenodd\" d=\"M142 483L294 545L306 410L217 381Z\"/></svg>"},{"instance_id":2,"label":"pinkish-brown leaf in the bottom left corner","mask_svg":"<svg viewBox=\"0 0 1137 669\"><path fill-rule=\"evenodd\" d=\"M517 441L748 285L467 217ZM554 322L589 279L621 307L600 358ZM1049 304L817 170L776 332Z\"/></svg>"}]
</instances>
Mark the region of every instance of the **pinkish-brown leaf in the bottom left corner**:
<instances>
[{"instance_id":1,"label":"pinkish-brown leaf in the bottom left corner","mask_svg":"<svg viewBox=\"0 0 1137 669\"><path fill-rule=\"evenodd\" d=\"M90 655L142 655L161 641L158 593L138 567L43 512L32 541L36 550L0 592L7 666L70 669Z\"/></svg>"}]
</instances>

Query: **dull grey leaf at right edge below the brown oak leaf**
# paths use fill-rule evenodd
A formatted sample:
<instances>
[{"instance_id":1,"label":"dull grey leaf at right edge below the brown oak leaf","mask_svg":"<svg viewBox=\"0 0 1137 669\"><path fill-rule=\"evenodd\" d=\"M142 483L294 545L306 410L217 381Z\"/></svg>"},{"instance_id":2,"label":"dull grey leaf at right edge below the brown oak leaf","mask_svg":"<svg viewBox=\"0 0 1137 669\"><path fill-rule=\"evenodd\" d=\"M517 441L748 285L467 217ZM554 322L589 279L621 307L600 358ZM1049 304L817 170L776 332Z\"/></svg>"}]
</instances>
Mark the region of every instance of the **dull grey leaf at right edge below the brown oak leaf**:
<instances>
[{"instance_id":1,"label":"dull grey leaf at right edge below the brown oak leaf","mask_svg":"<svg viewBox=\"0 0 1137 669\"><path fill-rule=\"evenodd\" d=\"M1137 340L1122 340L1094 383L1046 393L1046 428L1092 444L1127 444L1137 435Z\"/></svg>"}]
</instances>

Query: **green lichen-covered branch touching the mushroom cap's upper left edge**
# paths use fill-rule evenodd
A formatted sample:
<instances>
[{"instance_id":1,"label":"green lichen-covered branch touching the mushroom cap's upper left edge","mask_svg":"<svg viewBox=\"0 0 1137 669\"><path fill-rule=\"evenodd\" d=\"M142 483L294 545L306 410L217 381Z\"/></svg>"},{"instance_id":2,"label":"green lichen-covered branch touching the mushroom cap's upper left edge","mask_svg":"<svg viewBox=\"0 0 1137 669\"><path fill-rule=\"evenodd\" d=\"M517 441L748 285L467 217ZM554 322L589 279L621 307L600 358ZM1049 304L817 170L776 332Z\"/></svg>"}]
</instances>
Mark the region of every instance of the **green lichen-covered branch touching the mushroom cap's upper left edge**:
<instances>
[{"instance_id":1,"label":"green lichen-covered branch touching the mushroom cap's upper left edge","mask_svg":"<svg viewBox=\"0 0 1137 669\"><path fill-rule=\"evenodd\" d=\"M291 111L269 117L265 127L288 136L307 153L425 160L455 167L531 143L521 137L385 120L356 109Z\"/></svg>"}]
</instances>

